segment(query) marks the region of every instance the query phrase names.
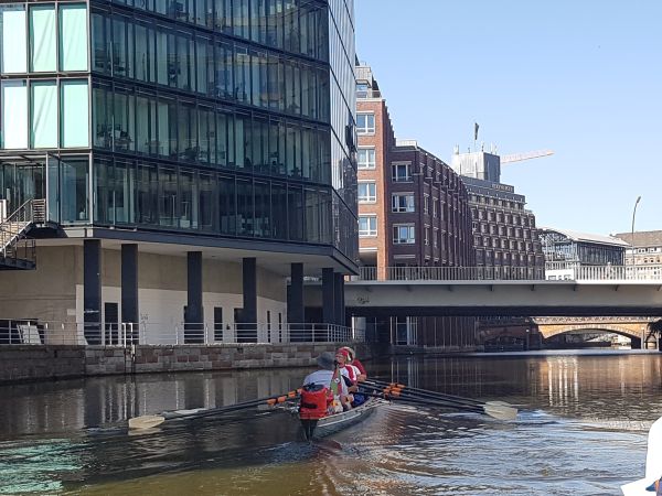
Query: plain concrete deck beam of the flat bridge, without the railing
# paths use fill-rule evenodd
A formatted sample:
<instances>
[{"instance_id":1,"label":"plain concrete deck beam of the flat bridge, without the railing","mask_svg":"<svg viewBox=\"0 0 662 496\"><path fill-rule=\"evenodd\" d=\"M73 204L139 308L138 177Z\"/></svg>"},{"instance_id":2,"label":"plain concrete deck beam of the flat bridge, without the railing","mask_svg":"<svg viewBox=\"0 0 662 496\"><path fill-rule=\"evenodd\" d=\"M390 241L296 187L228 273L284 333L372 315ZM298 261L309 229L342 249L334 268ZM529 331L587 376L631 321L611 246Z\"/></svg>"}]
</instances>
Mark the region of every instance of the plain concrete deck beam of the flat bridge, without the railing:
<instances>
[{"instance_id":1,"label":"plain concrete deck beam of the flat bridge, without the railing","mask_svg":"<svg viewBox=\"0 0 662 496\"><path fill-rule=\"evenodd\" d=\"M309 294L308 305L321 306ZM345 285L354 315L662 316L659 282L355 281Z\"/></svg>"}]
</instances>

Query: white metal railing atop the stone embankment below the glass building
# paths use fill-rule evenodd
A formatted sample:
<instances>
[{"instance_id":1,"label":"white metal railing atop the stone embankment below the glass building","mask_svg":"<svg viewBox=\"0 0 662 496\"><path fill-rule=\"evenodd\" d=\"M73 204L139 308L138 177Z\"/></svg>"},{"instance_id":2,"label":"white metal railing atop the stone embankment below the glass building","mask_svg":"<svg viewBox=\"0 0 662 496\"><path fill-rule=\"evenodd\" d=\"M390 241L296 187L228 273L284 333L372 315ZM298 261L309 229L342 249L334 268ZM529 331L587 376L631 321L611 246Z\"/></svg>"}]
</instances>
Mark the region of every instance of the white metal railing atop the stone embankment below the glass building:
<instances>
[{"instance_id":1,"label":"white metal railing atop the stone embankment below the glass building","mask_svg":"<svg viewBox=\"0 0 662 496\"><path fill-rule=\"evenodd\" d=\"M85 323L0 320L0 345L213 345L363 341L361 330L334 324Z\"/></svg>"}]
</instances>

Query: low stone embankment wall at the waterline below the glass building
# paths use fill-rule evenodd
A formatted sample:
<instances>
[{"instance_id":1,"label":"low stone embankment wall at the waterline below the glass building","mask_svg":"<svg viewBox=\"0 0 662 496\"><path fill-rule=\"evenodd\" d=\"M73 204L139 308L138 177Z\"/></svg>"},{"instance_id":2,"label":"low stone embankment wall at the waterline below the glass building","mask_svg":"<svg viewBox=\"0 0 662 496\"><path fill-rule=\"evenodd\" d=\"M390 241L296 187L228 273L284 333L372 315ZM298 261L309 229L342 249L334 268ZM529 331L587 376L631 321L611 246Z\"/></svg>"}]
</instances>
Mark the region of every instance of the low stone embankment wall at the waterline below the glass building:
<instances>
[{"instance_id":1,"label":"low stone embankment wall at the waterline below the glass building","mask_svg":"<svg viewBox=\"0 0 662 496\"><path fill-rule=\"evenodd\" d=\"M113 374L227 370L314 366L337 343L136 346L0 346L0 382L64 379ZM367 344L351 345L362 360L374 358Z\"/></svg>"}]
</instances>

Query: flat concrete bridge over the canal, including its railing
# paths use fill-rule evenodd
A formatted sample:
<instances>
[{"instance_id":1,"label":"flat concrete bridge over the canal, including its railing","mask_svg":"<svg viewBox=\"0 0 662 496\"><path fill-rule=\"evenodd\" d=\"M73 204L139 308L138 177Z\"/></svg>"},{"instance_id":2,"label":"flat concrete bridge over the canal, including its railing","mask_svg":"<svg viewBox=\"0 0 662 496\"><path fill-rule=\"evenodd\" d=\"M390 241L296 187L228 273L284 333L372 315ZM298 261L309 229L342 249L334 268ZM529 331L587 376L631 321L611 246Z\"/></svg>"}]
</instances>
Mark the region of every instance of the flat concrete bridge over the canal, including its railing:
<instances>
[{"instance_id":1,"label":"flat concrete bridge over the canal, including its railing","mask_svg":"<svg viewBox=\"0 0 662 496\"><path fill-rule=\"evenodd\" d=\"M350 314L662 316L662 267L660 271L590 267L566 280L528 279L524 271L478 267L393 269L384 280L369 272L345 283ZM307 292L307 305L321 304L321 291Z\"/></svg>"}]
</instances>

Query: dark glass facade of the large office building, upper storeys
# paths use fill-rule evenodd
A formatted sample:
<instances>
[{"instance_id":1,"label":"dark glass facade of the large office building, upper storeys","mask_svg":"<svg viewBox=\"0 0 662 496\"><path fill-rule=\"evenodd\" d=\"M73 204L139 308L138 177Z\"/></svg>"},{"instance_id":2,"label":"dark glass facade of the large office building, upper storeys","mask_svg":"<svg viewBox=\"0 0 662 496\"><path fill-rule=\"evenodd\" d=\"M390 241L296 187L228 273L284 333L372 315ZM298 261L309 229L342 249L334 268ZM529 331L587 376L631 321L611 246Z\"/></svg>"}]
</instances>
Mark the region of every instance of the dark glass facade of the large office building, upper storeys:
<instances>
[{"instance_id":1,"label":"dark glass facade of the large office building, upper storeys","mask_svg":"<svg viewBox=\"0 0 662 496\"><path fill-rule=\"evenodd\" d=\"M351 1L11 3L0 40L0 159L47 169L53 220L356 260Z\"/></svg>"}]
</instances>

